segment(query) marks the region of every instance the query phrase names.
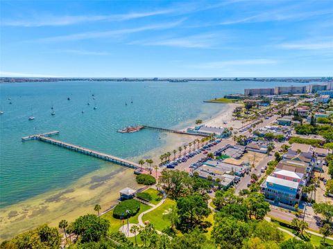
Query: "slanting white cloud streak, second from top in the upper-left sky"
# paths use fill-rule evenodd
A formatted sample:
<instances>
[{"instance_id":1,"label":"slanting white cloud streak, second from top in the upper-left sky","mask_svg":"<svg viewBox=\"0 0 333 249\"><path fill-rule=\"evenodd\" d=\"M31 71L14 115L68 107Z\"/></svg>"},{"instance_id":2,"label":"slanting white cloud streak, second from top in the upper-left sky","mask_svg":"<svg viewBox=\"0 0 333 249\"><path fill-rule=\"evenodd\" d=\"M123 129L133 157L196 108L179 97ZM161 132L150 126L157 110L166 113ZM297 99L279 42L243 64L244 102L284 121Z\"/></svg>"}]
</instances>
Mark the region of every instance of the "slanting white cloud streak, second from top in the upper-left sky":
<instances>
[{"instance_id":1,"label":"slanting white cloud streak, second from top in the upper-left sky","mask_svg":"<svg viewBox=\"0 0 333 249\"><path fill-rule=\"evenodd\" d=\"M124 28L121 30L108 30L100 32L85 32L76 33L71 35L60 35L56 37L46 37L42 39L36 39L33 42L68 42L68 41L78 41L83 39L96 39L96 38L106 38L106 37L117 37L126 34L139 33L147 30L163 30L168 28L173 28L182 23L185 19L180 19L179 21L164 23L164 24L153 24L149 26L141 26L137 28Z\"/></svg>"}]
</instances>

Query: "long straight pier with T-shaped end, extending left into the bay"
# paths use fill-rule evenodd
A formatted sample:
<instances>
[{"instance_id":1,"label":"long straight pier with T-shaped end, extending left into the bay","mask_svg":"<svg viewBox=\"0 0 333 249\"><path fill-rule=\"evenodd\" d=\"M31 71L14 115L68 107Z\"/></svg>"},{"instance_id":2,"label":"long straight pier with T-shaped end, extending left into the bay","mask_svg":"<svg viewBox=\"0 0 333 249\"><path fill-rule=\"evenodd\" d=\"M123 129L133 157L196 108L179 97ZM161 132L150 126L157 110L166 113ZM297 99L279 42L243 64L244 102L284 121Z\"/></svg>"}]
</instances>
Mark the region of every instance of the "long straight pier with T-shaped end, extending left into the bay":
<instances>
[{"instance_id":1,"label":"long straight pier with T-shaped end, extending left into the bay","mask_svg":"<svg viewBox=\"0 0 333 249\"><path fill-rule=\"evenodd\" d=\"M105 154L105 153L95 151L92 149L80 147L78 145L71 145L68 142L62 142L60 140L49 138L50 136L58 135L58 134L59 134L59 131L52 131L52 132L48 132L48 133L44 133L44 134L26 136L26 137L22 138L22 142L24 142L26 140L40 140L42 142L48 142L51 145L57 145L59 147L65 148L65 149L70 149L71 151L76 151L78 153L85 154L87 156L92 156L94 158L99 158L101 160L105 160L105 161L108 161L111 163L116 163L121 166L130 167L133 169L140 168L139 164L133 163L130 160L118 158L117 156L112 156L112 155Z\"/></svg>"}]
</instances>

